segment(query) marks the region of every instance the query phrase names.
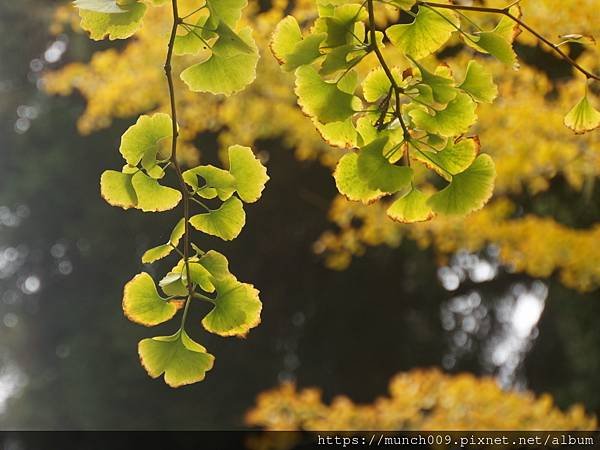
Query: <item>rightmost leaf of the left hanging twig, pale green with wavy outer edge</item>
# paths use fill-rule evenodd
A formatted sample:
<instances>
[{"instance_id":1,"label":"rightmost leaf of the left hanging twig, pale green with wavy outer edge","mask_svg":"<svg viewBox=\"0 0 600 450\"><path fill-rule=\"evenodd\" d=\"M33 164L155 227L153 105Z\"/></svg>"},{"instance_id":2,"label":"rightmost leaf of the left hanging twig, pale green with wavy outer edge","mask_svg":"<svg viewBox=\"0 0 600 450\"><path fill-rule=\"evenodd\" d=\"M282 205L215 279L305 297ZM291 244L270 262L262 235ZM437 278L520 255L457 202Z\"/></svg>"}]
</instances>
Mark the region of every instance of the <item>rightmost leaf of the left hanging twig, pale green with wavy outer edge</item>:
<instances>
[{"instance_id":1,"label":"rightmost leaf of the left hanging twig, pale green with wavy outer edge","mask_svg":"<svg viewBox=\"0 0 600 450\"><path fill-rule=\"evenodd\" d=\"M246 203L257 201L269 180L267 169L254 156L250 147L229 147L229 173L235 179L235 189Z\"/></svg>"}]
</instances>

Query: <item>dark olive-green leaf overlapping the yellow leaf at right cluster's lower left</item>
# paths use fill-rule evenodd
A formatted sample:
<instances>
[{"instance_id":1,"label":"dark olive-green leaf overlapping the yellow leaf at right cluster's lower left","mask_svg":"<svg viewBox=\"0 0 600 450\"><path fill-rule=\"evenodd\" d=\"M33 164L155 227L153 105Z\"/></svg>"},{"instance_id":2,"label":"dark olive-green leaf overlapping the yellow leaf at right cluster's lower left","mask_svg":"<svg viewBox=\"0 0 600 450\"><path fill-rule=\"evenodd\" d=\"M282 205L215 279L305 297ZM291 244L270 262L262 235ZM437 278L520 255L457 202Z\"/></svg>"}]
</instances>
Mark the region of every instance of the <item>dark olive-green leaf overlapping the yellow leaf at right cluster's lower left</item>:
<instances>
[{"instance_id":1,"label":"dark olive-green leaf overlapping the yellow leaf at right cluster's lower left","mask_svg":"<svg viewBox=\"0 0 600 450\"><path fill-rule=\"evenodd\" d=\"M391 164L384 156L387 137L379 138L358 153L358 174L370 189L393 194L405 188L412 179L412 169Z\"/></svg>"}]
</instances>

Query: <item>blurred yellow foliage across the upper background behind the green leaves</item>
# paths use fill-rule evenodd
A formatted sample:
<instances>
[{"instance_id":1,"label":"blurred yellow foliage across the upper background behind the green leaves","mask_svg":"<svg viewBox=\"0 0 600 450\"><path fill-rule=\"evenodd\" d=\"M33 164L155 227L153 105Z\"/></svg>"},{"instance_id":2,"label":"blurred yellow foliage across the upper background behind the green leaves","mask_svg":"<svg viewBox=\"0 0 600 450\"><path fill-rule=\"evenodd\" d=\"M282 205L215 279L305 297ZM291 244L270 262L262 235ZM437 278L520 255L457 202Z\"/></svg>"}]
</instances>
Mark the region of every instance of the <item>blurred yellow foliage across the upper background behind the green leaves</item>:
<instances>
[{"instance_id":1,"label":"blurred yellow foliage across the upper background behind the green leaves","mask_svg":"<svg viewBox=\"0 0 600 450\"><path fill-rule=\"evenodd\" d=\"M186 8L196 4L193 0L180 3L184 14ZM486 4L498 6L505 2L493 0ZM170 19L164 8L151 8L140 32L121 50L98 51L87 63L69 64L46 75L48 92L68 95L78 91L85 97L87 106L78 122L82 133L108 127L113 118L168 110L163 69L156 62L164 59L169 31ZM523 19L555 42L560 40L559 35L597 31L595 0L539 0L523 2L522 9ZM328 146L300 112L292 88L293 76L280 70L268 50L275 25L288 12L300 23L310 22L315 18L315 2L275 0L270 9L261 11L259 2L250 1L244 21L255 30L262 58L257 80L244 92L222 102L219 97L191 93L177 83L184 159L197 162L200 153L192 142L204 132L217 132L222 148L236 142L260 150L261 139L281 139L294 149L297 158L318 160L328 167L333 167L344 153ZM69 6L59 7L54 31L65 26L76 28L75 15ZM470 17L493 26L493 17ZM377 19L390 23L397 19L397 12L379 9ZM526 32L518 36L518 41L536 44ZM455 37L449 45L459 42ZM404 64L393 48L384 51L389 61ZM578 55L578 63L600 72L597 47L585 47ZM445 61L460 72L473 56L466 49ZM177 58L175 71L189 65L189 61ZM489 58L484 63L494 73L500 92L494 104L479 108L475 130L482 151L492 155L496 163L496 188L490 204L466 218L438 217L407 226L392 222L383 202L367 207L338 197L329 213L337 231L325 231L315 243L315 250L325 255L328 266L344 269L353 256L364 253L369 246L395 247L404 238L415 239L423 247L433 246L440 260L461 248L476 251L494 243L500 249L500 261L515 271L536 277L558 273L566 286L580 291L600 286L600 247L594 245L600 238L600 226L573 229L551 216L523 215L515 200L516 196L535 199L559 178L565 180L569 190L584 196L600 175L600 134L596 131L577 136L563 124L564 115L583 95L585 80L574 74L551 81L539 69L524 64L515 71ZM374 58L367 58L361 72L366 73L375 64ZM457 78L460 75L457 73ZM589 89L592 94L598 93L593 84ZM592 95L591 101L597 105L598 96ZM424 175L417 173L419 176Z\"/></svg>"}]
</instances>

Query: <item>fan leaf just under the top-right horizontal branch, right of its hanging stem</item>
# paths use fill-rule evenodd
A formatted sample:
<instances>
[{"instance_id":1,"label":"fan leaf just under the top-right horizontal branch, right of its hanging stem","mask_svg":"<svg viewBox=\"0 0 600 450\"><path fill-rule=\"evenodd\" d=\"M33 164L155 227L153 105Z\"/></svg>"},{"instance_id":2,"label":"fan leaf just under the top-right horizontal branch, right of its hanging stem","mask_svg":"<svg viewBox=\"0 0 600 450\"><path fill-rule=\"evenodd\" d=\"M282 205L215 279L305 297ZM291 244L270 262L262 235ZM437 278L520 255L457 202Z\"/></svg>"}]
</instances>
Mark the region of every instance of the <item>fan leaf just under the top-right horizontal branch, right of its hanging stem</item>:
<instances>
[{"instance_id":1,"label":"fan leaf just under the top-right horizontal branch, right of its hanging stem","mask_svg":"<svg viewBox=\"0 0 600 450\"><path fill-rule=\"evenodd\" d=\"M412 23L392 25L386 35L407 55L423 59L439 50L459 25L460 21L452 11L420 6Z\"/></svg>"}]
</instances>

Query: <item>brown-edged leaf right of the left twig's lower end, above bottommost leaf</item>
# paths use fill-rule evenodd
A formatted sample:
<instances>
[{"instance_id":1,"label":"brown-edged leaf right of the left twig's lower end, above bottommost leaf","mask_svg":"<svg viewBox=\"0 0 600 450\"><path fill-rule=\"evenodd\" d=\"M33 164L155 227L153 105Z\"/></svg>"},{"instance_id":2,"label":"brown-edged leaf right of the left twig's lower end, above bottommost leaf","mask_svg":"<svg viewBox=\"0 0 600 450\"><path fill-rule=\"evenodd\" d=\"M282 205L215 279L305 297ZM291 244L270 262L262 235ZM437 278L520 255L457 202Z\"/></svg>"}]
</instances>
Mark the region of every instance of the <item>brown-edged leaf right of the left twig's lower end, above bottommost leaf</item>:
<instances>
[{"instance_id":1,"label":"brown-edged leaf right of the left twig's lower end, above bottommost leaf","mask_svg":"<svg viewBox=\"0 0 600 450\"><path fill-rule=\"evenodd\" d=\"M262 304L254 286L234 277L214 281L214 308L202 320L207 331L220 336L244 336L260 323Z\"/></svg>"}]
</instances>

